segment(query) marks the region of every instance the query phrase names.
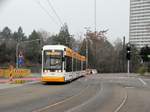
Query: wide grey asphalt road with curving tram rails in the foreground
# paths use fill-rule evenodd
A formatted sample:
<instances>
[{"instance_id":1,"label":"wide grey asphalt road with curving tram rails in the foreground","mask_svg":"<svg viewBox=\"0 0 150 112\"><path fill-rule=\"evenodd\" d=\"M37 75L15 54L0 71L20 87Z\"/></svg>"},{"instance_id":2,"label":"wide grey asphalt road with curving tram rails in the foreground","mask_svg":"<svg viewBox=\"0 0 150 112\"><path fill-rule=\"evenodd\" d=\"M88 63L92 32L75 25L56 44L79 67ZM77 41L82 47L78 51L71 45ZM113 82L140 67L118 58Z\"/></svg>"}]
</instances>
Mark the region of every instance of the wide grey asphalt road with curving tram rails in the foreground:
<instances>
[{"instance_id":1,"label":"wide grey asphalt road with curving tram rails in the foreground","mask_svg":"<svg viewBox=\"0 0 150 112\"><path fill-rule=\"evenodd\" d=\"M149 112L150 79L96 74L68 84L0 90L0 112Z\"/></svg>"}]
</instances>

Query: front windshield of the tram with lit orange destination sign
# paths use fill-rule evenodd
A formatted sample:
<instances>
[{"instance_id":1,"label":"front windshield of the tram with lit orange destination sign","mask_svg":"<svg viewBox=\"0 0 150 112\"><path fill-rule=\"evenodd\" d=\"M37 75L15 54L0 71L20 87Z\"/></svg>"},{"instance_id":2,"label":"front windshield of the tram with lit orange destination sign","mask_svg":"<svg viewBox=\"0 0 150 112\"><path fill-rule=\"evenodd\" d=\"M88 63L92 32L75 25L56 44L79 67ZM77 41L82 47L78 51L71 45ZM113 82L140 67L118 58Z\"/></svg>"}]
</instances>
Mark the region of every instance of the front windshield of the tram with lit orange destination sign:
<instances>
[{"instance_id":1,"label":"front windshield of the tram with lit orange destination sign","mask_svg":"<svg viewBox=\"0 0 150 112\"><path fill-rule=\"evenodd\" d=\"M44 69L62 70L62 51L44 51Z\"/></svg>"}]
</instances>

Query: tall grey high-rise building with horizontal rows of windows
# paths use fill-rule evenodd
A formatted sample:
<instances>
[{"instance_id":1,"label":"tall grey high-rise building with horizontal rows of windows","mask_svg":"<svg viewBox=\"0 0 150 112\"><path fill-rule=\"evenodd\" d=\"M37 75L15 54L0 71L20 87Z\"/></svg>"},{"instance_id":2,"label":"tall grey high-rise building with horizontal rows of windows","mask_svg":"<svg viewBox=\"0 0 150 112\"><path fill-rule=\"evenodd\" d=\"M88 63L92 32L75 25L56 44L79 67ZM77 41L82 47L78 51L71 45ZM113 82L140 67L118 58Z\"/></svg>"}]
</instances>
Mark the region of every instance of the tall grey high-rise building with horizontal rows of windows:
<instances>
[{"instance_id":1,"label":"tall grey high-rise building with horizontal rows of windows","mask_svg":"<svg viewBox=\"0 0 150 112\"><path fill-rule=\"evenodd\" d=\"M150 45L150 0L130 0L129 41L138 49Z\"/></svg>"}]
</instances>

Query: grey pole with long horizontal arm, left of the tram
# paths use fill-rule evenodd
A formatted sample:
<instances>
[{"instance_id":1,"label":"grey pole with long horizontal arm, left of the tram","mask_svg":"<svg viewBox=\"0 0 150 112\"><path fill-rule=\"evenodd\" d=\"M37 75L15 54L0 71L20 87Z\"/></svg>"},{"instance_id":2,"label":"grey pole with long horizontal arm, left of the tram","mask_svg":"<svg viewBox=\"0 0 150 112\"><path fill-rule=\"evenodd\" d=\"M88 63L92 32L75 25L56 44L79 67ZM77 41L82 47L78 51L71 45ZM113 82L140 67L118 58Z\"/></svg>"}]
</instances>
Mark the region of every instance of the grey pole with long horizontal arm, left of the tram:
<instances>
[{"instance_id":1,"label":"grey pole with long horizontal arm, left of the tram","mask_svg":"<svg viewBox=\"0 0 150 112\"><path fill-rule=\"evenodd\" d=\"M16 45L16 69L18 69L18 59L19 59L19 56L18 56L18 49L19 49L19 45L20 44L24 44L24 43L30 43L30 42L35 42L35 41L41 41L41 39L36 39L36 40L28 40L28 41L22 41L22 42L18 42L17 45Z\"/></svg>"}]
</instances>

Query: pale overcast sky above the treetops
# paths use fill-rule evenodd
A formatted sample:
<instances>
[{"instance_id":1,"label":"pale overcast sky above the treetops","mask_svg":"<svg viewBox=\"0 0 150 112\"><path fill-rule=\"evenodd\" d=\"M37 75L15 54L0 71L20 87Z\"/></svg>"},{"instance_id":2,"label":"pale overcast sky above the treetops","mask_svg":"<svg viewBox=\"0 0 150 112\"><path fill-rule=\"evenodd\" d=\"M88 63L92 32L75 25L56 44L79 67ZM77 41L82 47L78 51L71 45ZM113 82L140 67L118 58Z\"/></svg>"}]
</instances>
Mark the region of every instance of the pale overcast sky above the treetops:
<instances>
[{"instance_id":1,"label":"pale overcast sky above the treetops","mask_svg":"<svg viewBox=\"0 0 150 112\"><path fill-rule=\"evenodd\" d=\"M52 16L42 9L39 2ZM85 27L94 30L94 0L50 0L62 22L66 22L72 35L85 33ZM58 33L60 22L47 0L8 0L0 5L0 30L5 26L13 31L23 27L28 35L33 29ZM129 32L129 0L97 0L97 29L108 31L113 42Z\"/></svg>"}]
</instances>

